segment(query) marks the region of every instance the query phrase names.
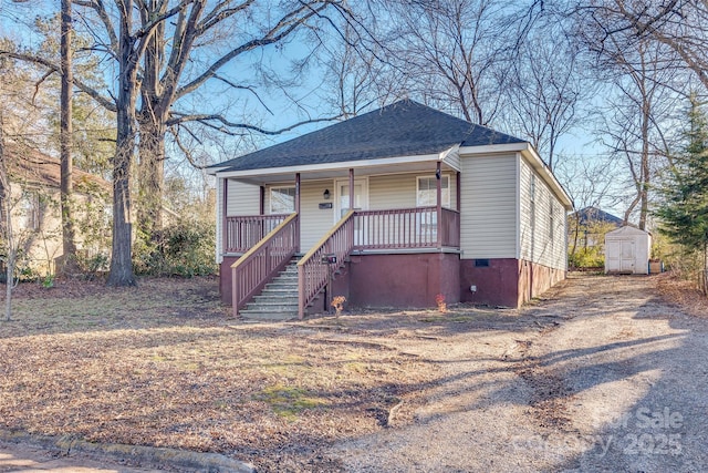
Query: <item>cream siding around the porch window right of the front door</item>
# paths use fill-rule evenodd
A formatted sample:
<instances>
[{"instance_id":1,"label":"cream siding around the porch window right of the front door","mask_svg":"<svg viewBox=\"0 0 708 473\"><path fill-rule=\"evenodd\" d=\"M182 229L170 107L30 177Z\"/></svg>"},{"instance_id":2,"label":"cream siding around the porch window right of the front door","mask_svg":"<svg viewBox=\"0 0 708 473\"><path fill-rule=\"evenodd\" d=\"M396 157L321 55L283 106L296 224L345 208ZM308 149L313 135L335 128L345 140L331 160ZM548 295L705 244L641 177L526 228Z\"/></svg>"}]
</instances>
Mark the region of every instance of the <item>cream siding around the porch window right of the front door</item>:
<instances>
[{"instance_id":1,"label":"cream siding around the porch window right of the front door","mask_svg":"<svg viewBox=\"0 0 708 473\"><path fill-rule=\"evenodd\" d=\"M417 178L434 176L435 173L395 174L371 176L368 178L368 209L386 210L395 208L413 208L416 206ZM442 173L449 177L450 207L456 208L456 174Z\"/></svg>"}]
</instances>

